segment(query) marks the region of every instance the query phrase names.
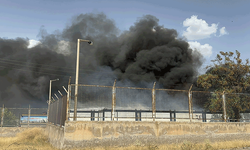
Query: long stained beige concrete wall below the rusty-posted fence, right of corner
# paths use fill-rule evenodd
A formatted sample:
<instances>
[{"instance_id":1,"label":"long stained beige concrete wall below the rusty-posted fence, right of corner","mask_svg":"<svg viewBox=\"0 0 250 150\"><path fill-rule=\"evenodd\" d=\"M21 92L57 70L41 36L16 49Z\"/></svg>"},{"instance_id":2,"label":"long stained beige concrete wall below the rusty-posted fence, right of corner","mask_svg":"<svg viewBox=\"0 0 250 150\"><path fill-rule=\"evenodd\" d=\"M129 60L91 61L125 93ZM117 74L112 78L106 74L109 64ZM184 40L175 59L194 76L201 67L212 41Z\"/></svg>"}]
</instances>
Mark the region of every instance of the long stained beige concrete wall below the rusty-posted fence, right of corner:
<instances>
[{"instance_id":1,"label":"long stained beige concrete wall below the rusty-posted fence, right of corner","mask_svg":"<svg viewBox=\"0 0 250 150\"><path fill-rule=\"evenodd\" d=\"M64 148L129 146L250 138L249 123L67 121Z\"/></svg>"}]
</instances>

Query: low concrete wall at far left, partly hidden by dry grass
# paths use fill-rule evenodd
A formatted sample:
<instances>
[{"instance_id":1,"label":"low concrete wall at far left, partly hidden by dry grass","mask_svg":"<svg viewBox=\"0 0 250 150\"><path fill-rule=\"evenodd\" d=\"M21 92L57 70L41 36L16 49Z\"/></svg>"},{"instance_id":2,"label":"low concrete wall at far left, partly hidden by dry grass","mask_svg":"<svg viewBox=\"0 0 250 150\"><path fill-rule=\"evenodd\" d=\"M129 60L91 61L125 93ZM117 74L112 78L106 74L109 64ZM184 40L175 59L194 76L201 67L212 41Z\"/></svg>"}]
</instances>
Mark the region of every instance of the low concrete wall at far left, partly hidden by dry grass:
<instances>
[{"instance_id":1,"label":"low concrete wall at far left, partly hidden by dry grass","mask_svg":"<svg viewBox=\"0 0 250 150\"><path fill-rule=\"evenodd\" d=\"M27 127L0 127L0 137L14 137L17 133L31 128Z\"/></svg>"}]
</instances>

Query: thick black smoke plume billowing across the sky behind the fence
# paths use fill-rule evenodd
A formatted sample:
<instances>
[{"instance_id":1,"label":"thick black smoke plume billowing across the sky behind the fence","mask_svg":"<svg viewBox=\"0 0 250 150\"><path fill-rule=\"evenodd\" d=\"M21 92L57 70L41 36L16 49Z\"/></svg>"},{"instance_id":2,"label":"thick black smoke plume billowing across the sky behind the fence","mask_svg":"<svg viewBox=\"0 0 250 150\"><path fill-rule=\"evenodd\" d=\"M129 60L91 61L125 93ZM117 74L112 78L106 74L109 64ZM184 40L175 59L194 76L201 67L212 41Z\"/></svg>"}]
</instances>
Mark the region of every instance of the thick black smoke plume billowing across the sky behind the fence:
<instances>
[{"instance_id":1,"label":"thick black smoke plume billowing across the sky behind the fence","mask_svg":"<svg viewBox=\"0 0 250 150\"><path fill-rule=\"evenodd\" d=\"M177 31L158 24L151 15L120 32L113 20L101 14L80 14L62 31L47 33L40 44L28 47L25 38L0 38L0 102L7 106L47 106L49 80L62 92L69 76L75 82L77 39L81 43L79 83L152 86L187 89L197 75L202 57L178 37Z\"/></svg>"}]
</instances>

